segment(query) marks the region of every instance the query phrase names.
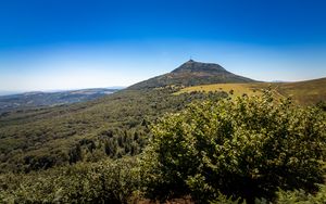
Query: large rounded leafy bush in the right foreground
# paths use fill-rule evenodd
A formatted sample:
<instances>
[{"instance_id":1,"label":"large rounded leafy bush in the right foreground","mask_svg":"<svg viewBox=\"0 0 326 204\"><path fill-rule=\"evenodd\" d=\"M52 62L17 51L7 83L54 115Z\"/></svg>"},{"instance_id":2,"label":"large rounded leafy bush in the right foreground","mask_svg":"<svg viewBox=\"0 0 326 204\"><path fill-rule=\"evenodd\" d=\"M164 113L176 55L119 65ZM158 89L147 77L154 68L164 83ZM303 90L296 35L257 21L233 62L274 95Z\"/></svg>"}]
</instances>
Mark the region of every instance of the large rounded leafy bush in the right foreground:
<instances>
[{"instance_id":1,"label":"large rounded leafy bush in the right foreground","mask_svg":"<svg viewBox=\"0 0 326 204\"><path fill-rule=\"evenodd\" d=\"M201 203L220 192L272 200L278 188L316 190L323 181L325 115L291 101L242 97L205 101L153 127L142 165L148 196L191 194Z\"/></svg>"}]
</instances>

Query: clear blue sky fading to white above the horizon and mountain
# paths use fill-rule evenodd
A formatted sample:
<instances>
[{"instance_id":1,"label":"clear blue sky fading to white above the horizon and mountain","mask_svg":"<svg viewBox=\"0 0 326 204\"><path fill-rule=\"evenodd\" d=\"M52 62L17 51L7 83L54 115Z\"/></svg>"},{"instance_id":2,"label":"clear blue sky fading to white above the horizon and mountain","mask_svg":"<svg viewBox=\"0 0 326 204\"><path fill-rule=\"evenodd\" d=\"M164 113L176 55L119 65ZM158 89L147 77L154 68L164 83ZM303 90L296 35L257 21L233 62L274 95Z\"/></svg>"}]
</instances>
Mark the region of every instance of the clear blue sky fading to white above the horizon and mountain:
<instances>
[{"instance_id":1,"label":"clear blue sky fading to white above the horizon and mountain","mask_svg":"<svg viewBox=\"0 0 326 204\"><path fill-rule=\"evenodd\" d=\"M259 80L326 77L324 0L1 0L0 90L128 86L192 56Z\"/></svg>"}]
</instances>

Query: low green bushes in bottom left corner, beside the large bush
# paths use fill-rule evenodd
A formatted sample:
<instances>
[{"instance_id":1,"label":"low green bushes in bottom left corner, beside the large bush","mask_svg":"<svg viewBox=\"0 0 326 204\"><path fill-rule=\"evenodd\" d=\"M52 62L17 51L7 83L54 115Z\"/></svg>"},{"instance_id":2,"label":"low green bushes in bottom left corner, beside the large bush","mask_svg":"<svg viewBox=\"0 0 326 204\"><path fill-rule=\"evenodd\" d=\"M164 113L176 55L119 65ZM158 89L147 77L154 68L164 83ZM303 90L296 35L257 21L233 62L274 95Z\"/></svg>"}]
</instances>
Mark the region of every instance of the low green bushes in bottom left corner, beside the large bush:
<instances>
[{"instance_id":1,"label":"low green bushes in bottom left corner, beside the large bush","mask_svg":"<svg viewBox=\"0 0 326 204\"><path fill-rule=\"evenodd\" d=\"M127 203L139 186L135 158L0 176L0 203Z\"/></svg>"}]
</instances>

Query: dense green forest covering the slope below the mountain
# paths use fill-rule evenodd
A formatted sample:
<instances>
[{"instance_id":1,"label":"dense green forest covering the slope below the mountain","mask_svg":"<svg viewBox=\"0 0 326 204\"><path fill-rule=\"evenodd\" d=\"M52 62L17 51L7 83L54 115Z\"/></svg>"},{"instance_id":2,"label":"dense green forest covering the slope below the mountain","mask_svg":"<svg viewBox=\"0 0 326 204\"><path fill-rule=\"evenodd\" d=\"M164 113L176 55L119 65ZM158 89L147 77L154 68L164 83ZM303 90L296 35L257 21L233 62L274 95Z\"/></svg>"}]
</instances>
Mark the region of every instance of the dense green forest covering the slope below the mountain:
<instances>
[{"instance_id":1,"label":"dense green forest covering the slope below the mountain","mask_svg":"<svg viewBox=\"0 0 326 204\"><path fill-rule=\"evenodd\" d=\"M71 106L17 111L0 116L0 171L46 169L83 161L138 154L149 125L193 100L225 98L223 92L175 95L178 88L123 90Z\"/></svg>"}]
</instances>

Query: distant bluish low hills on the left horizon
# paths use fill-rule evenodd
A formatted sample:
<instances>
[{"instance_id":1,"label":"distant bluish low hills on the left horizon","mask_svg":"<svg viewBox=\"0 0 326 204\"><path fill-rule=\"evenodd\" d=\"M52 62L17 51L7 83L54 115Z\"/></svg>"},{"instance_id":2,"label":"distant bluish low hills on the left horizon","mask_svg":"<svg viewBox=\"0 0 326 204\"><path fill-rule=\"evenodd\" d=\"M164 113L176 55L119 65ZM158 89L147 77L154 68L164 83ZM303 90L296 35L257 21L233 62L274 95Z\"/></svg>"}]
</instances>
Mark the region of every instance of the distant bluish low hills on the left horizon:
<instances>
[{"instance_id":1,"label":"distant bluish low hills on the left horizon","mask_svg":"<svg viewBox=\"0 0 326 204\"><path fill-rule=\"evenodd\" d=\"M0 113L15 109L54 106L85 102L111 94L117 89L82 89L58 92L26 92L0 97Z\"/></svg>"}]
</instances>

